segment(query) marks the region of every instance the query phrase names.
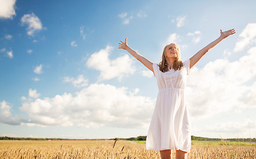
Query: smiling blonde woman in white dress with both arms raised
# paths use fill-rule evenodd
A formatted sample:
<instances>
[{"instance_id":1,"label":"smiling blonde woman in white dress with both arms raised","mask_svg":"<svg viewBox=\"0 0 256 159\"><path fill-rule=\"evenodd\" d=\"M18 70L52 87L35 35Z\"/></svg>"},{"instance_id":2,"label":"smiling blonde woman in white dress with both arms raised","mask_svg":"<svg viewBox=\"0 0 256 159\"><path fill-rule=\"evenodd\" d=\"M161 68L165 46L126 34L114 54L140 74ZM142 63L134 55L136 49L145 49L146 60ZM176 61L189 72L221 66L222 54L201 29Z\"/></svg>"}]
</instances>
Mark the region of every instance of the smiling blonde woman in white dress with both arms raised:
<instances>
[{"instance_id":1,"label":"smiling blonde woman in white dress with both arms raised","mask_svg":"<svg viewBox=\"0 0 256 159\"><path fill-rule=\"evenodd\" d=\"M160 150L161 158L172 158L172 150L176 150L176 158L187 158L187 154L190 152L190 115L184 94L186 80L190 69L206 52L227 36L235 34L235 29L220 31L219 38L184 62L181 59L180 49L174 43L166 45L162 54L162 62L159 64L153 64L132 50L127 45L127 38L125 42L120 41L119 43L119 48L127 50L134 58L142 62L144 66L154 72L157 79L159 93L146 138L146 149Z\"/></svg>"}]
</instances>

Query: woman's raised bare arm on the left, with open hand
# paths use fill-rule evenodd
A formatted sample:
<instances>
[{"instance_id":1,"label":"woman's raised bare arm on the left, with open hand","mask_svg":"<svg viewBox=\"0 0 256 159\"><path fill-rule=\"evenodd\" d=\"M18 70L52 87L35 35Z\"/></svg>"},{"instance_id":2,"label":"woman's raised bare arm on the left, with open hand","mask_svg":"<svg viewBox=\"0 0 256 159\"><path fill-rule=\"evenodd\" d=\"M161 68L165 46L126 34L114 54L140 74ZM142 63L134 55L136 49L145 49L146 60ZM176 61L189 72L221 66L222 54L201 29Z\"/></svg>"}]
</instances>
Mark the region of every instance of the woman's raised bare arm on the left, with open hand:
<instances>
[{"instance_id":1,"label":"woman's raised bare arm on the left, with open hand","mask_svg":"<svg viewBox=\"0 0 256 159\"><path fill-rule=\"evenodd\" d=\"M138 52L132 50L132 48L130 48L127 45L127 38L125 39L125 42L120 41L119 48L122 48L122 49L128 51L132 56L134 56L134 58L139 60L142 64L144 64L144 66L146 66L148 69L150 69L152 72L154 72L154 70L153 70L153 63L150 62L150 60L144 58L144 56L142 56Z\"/></svg>"}]
</instances>

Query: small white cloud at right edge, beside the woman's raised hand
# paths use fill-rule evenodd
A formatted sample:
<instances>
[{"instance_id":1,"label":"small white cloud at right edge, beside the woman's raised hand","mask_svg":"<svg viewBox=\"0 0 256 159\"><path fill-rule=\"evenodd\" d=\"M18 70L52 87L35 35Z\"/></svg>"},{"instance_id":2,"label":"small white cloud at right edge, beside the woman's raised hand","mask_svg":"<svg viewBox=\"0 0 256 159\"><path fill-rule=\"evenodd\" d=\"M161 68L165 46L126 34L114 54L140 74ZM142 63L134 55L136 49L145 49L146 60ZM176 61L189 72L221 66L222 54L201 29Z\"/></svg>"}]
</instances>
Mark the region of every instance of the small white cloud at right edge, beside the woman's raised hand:
<instances>
[{"instance_id":1,"label":"small white cloud at right edge, beside the woman's raised hand","mask_svg":"<svg viewBox=\"0 0 256 159\"><path fill-rule=\"evenodd\" d=\"M243 32L239 34L239 40L235 44L234 51L238 52L243 50L246 46L250 44L255 44L256 42L256 23L249 23Z\"/></svg>"}]
</instances>

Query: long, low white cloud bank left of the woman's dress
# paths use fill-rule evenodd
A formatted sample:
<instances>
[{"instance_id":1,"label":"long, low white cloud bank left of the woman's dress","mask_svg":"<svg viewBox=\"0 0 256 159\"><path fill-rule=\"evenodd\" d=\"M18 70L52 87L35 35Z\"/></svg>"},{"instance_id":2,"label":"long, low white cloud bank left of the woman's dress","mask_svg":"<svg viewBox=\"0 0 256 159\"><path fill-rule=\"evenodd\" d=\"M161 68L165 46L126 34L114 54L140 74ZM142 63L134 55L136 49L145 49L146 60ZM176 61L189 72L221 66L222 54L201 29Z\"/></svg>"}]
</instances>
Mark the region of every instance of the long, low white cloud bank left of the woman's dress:
<instances>
[{"instance_id":1,"label":"long, low white cloud bank left of the woman's dress","mask_svg":"<svg viewBox=\"0 0 256 159\"><path fill-rule=\"evenodd\" d=\"M64 93L24 101L20 110L29 116L25 125L146 128L155 100L136 93L138 89L91 84L75 96Z\"/></svg>"}]
</instances>

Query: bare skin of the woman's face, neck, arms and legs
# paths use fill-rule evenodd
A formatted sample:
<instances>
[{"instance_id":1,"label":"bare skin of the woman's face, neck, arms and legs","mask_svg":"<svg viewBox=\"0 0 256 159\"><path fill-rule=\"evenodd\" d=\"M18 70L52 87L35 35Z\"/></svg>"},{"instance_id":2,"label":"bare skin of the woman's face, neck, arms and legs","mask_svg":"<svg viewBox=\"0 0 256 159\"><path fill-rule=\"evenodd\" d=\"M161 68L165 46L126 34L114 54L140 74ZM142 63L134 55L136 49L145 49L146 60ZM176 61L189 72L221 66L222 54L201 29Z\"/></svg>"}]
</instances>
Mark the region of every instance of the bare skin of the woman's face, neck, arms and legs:
<instances>
[{"instance_id":1,"label":"bare skin of the woman's face, neck, arms and legs","mask_svg":"<svg viewBox=\"0 0 256 159\"><path fill-rule=\"evenodd\" d=\"M219 44L219 42L221 42L224 38L227 38L227 36L229 36L231 34L235 34L235 29L227 30L225 32L220 30L219 38L217 38L213 42L209 43L207 46L205 46L204 48L199 50L199 52L194 54L192 56L192 58L190 58L190 68L192 68L203 57L203 55L205 55L207 52L209 52L209 50L211 50L211 48L213 48L214 46ZM132 50L132 48L130 48L127 44L127 38L125 39L124 42L120 41L118 48L127 50L132 56L134 56L134 58L136 58L137 60L142 62L142 64L144 64L144 66L146 66L146 68L148 68L149 70L154 72L153 63L150 60L144 58L144 56L142 56L138 52ZM172 66L174 64L174 60L176 60L177 54L178 54L178 52L180 52L180 50L178 50L178 49L179 48L176 44L169 44L168 47L166 48L166 58L167 58L168 65L170 66L170 68L172 68ZM160 154L161 154L162 159L172 158L172 150L160 150ZM175 156L176 159L184 159L184 158L187 158L187 156L188 156L188 152L184 152L182 150L176 150L176 156Z\"/></svg>"}]
</instances>

